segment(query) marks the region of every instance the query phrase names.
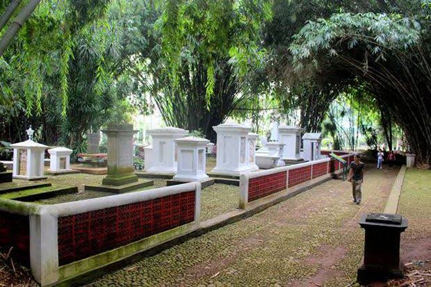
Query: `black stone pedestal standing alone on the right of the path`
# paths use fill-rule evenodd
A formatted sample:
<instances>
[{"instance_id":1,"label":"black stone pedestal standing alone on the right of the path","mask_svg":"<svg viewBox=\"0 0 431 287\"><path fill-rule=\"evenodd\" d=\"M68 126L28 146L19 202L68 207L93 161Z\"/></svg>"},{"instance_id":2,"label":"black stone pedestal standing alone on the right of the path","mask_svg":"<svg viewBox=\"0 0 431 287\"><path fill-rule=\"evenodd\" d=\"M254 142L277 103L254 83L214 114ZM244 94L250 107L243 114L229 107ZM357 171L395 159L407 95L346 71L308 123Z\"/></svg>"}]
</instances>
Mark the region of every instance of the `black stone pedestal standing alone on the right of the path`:
<instances>
[{"instance_id":1,"label":"black stone pedestal standing alone on the right of the path","mask_svg":"<svg viewBox=\"0 0 431 287\"><path fill-rule=\"evenodd\" d=\"M359 224L365 229L364 263L358 269L357 281L366 285L403 276L400 261L400 233L407 228L401 215L370 213Z\"/></svg>"}]
</instances>

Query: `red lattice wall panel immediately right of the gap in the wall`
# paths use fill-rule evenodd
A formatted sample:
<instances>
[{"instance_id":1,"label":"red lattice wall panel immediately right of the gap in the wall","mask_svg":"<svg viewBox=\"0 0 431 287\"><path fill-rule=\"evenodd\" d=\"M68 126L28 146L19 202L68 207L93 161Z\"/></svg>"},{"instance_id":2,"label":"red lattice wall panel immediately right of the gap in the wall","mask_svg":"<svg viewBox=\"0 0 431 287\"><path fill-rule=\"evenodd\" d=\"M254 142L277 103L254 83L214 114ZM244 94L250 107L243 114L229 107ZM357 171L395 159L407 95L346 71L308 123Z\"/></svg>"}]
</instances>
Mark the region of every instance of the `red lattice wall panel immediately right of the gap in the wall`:
<instances>
[{"instance_id":1,"label":"red lattice wall panel immediately right of the gap in the wall","mask_svg":"<svg viewBox=\"0 0 431 287\"><path fill-rule=\"evenodd\" d=\"M286 189L286 172L277 172L248 181L248 201Z\"/></svg>"}]
</instances>

